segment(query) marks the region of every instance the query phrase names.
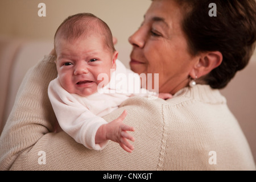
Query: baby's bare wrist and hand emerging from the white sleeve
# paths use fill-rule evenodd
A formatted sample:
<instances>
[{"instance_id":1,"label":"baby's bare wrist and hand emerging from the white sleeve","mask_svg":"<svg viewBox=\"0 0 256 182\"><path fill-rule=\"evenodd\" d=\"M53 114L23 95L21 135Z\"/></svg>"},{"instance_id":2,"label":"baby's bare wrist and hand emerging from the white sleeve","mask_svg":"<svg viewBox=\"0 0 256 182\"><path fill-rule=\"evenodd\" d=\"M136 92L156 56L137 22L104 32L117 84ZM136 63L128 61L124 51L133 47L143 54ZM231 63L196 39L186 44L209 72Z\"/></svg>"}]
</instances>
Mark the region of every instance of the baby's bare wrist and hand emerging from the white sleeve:
<instances>
[{"instance_id":1,"label":"baby's bare wrist and hand emerging from the white sleeve","mask_svg":"<svg viewBox=\"0 0 256 182\"><path fill-rule=\"evenodd\" d=\"M95 143L112 140L113 142L119 143L123 150L132 152L134 147L128 139L134 142L134 138L127 131L134 131L134 128L123 123L126 115L127 111L125 110L117 119L114 119L108 124L101 125L97 130Z\"/></svg>"}]
</instances>

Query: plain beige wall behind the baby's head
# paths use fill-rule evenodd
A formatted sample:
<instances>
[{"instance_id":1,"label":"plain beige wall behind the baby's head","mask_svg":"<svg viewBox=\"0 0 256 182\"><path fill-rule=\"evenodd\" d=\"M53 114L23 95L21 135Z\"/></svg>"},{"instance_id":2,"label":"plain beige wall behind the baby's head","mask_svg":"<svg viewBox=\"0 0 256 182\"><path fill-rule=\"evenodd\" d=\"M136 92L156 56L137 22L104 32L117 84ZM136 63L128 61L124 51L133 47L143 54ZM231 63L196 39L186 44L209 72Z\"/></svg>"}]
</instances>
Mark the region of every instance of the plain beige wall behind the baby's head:
<instances>
[{"instance_id":1,"label":"plain beige wall behind the baby's head","mask_svg":"<svg viewBox=\"0 0 256 182\"><path fill-rule=\"evenodd\" d=\"M39 17L39 3L46 4L46 17ZM0 35L53 40L67 16L88 12L108 23L118 38L119 59L129 62L127 39L140 26L150 0L0 0ZM127 65L127 64L126 64Z\"/></svg>"}]
</instances>

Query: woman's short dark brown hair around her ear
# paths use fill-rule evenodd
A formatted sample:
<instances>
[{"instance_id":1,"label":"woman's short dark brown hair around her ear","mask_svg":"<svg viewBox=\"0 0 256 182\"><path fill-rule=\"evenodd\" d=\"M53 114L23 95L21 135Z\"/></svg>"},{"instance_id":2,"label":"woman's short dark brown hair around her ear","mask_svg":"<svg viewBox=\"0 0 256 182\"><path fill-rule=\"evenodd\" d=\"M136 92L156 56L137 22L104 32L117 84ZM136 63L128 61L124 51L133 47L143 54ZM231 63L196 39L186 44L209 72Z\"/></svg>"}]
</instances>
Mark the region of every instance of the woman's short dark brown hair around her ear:
<instances>
[{"instance_id":1,"label":"woman's short dark brown hair around her ear","mask_svg":"<svg viewBox=\"0 0 256 182\"><path fill-rule=\"evenodd\" d=\"M203 77L212 88L224 88L245 68L255 48L255 0L174 0L181 7L181 27L187 36L189 52L220 51L220 66ZM209 16L209 5L215 3L217 16Z\"/></svg>"}]
</instances>

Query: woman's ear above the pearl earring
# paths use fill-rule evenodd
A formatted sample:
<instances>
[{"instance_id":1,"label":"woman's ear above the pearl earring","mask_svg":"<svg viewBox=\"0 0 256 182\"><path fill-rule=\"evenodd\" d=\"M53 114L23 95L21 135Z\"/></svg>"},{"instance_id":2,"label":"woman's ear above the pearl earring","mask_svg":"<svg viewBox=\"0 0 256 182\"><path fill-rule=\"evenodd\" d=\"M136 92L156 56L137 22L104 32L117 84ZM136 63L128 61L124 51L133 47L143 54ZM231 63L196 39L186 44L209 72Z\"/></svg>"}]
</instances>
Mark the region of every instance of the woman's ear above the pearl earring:
<instances>
[{"instance_id":1,"label":"woman's ear above the pearl earring","mask_svg":"<svg viewBox=\"0 0 256 182\"><path fill-rule=\"evenodd\" d=\"M201 53L189 75L192 78L200 78L201 76L207 75L221 64L222 59L223 57L220 51Z\"/></svg>"}]
</instances>

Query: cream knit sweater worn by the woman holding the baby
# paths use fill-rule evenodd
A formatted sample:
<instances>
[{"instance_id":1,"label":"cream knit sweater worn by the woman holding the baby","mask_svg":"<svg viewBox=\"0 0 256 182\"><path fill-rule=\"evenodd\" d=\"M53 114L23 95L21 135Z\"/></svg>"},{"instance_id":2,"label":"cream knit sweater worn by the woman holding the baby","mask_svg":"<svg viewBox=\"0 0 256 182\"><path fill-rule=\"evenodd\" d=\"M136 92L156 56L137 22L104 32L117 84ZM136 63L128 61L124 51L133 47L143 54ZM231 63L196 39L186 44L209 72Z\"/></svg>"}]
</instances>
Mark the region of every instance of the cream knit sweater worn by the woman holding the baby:
<instances>
[{"instance_id":1,"label":"cream knit sweater worn by the woman holding the baby","mask_svg":"<svg viewBox=\"0 0 256 182\"><path fill-rule=\"evenodd\" d=\"M132 97L106 115L128 111L125 123L135 132L134 151L109 142L89 150L56 122L47 96L57 76L54 57L30 69L0 138L1 170L255 170L249 145L226 100L208 85L184 88L164 101Z\"/></svg>"}]
</instances>

